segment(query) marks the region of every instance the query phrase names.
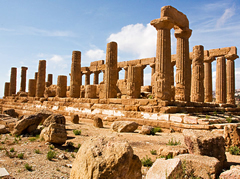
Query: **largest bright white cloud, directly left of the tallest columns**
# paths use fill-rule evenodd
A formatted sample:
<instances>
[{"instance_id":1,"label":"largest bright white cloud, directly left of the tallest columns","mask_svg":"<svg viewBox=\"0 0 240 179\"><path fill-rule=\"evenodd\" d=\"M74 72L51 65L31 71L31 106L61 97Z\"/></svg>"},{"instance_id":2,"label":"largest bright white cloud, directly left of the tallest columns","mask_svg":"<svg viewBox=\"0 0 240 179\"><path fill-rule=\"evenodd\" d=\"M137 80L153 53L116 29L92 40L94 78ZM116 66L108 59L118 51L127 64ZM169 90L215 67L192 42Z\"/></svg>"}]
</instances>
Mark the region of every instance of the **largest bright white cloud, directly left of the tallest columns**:
<instances>
[{"instance_id":1,"label":"largest bright white cloud, directly left of the tallest columns","mask_svg":"<svg viewBox=\"0 0 240 179\"><path fill-rule=\"evenodd\" d=\"M156 53L156 29L147 24L131 24L124 26L120 32L111 34L107 41L118 43L118 49L130 53L136 58L153 57Z\"/></svg>"}]
</instances>

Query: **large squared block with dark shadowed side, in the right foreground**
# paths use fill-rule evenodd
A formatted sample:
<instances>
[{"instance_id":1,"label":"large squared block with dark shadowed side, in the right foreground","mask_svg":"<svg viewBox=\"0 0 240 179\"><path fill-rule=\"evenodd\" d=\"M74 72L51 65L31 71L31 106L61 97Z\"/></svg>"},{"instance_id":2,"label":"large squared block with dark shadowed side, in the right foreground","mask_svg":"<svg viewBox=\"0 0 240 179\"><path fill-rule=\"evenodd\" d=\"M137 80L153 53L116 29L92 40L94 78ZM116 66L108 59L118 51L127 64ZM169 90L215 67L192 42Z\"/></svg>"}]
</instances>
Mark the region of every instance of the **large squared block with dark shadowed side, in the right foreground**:
<instances>
[{"instance_id":1,"label":"large squared block with dark shadowed side, in the right foreground","mask_svg":"<svg viewBox=\"0 0 240 179\"><path fill-rule=\"evenodd\" d=\"M184 142L190 154L216 157L224 166L226 164L225 141L222 136L210 131L184 129Z\"/></svg>"}]
</instances>

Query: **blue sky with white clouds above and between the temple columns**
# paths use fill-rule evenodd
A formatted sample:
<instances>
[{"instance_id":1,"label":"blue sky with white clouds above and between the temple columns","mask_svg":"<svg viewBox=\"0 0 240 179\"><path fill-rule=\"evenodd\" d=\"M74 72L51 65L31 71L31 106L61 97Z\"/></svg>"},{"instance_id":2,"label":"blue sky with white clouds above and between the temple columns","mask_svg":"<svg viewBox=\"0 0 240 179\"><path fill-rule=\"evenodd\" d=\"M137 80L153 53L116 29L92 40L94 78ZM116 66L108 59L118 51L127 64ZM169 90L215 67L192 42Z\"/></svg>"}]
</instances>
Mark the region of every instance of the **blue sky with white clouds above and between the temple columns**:
<instances>
[{"instance_id":1,"label":"blue sky with white clouds above and between the temple columns","mask_svg":"<svg viewBox=\"0 0 240 179\"><path fill-rule=\"evenodd\" d=\"M149 23L160 17L161 7L166 5L187 15L193 30L190 51L195 45L204 49L240 47L239 0L0 0L0 97L11 67L18 68L19 90L21 66L28 67L28 81L34 78L41 59L47 60L47 73L53 74L56 84L58 75L70 73L73 50L82 52L82 66L105 59L110 41L118 43L118 61L154 57L156 30ZM239 59L235 64L236 88L240 88ZM150 84L149 67L144 80L145 85ZM214 80L215 63L213 86Z\"/></svg>"}]
</instances>

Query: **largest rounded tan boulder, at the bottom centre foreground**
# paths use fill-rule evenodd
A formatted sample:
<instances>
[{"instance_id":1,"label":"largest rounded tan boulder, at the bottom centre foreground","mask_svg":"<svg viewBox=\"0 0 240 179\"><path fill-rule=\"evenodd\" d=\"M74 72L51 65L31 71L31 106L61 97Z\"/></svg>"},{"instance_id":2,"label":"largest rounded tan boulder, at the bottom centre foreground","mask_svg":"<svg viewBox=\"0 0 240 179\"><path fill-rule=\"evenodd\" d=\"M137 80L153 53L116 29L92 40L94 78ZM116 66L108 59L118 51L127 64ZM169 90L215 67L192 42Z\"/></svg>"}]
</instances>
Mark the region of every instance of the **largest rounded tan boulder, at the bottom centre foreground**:
<instances>
[{"instance_id":1,"label":"largest rounded tan boulder, at the bottom centre foreground","mask_svg":"<svg viewBox=\"0 0 240 179\"><path fill-rule=\"evenodd\" d=\"M141 179L141 167L128 142L114 137L93 137L79 149L70 179Z\"/></svg>"}]
</instances>

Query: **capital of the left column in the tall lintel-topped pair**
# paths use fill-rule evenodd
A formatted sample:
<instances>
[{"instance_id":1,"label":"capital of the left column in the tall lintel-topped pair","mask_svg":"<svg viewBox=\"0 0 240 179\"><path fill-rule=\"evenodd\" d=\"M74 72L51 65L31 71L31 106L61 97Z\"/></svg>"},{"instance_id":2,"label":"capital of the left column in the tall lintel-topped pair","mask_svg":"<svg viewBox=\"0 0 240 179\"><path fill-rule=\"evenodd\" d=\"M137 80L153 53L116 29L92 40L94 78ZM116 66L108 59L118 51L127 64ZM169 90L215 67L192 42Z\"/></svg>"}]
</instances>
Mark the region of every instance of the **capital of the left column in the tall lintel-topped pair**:
<instances>
[{"instance_id":1,"label":"capital of the left column in the tall lintel-topped pair","mask_svg":"<svg viewBox=\"0 0 240 179\"><path fill-rule=\"evenodd\" d=\"M154 19L150 22L152 26L159 29L171 29L174 26L174 21L170 17L161 17L159 19Z\"/></svg>"}]
</instances>

